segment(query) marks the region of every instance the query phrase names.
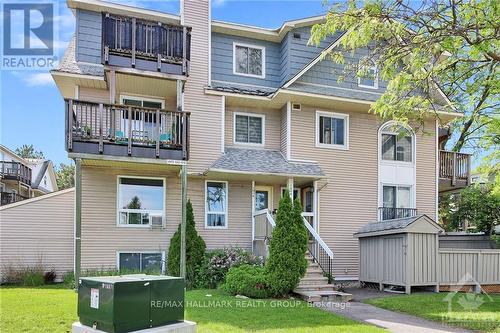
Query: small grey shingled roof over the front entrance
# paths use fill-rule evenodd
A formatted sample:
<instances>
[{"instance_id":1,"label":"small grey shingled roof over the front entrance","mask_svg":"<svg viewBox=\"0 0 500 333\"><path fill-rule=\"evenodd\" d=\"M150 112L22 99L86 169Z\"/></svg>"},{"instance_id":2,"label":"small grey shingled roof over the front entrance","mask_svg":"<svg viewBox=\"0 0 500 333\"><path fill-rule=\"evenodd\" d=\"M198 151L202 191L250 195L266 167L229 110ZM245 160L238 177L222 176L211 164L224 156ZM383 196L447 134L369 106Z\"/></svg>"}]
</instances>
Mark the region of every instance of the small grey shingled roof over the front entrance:
<instances>
[{"instance_id":1,"label":"small grey shingled roof over the front entrance","mask_svg":"<svg viewBox=\"0 0 500 333\"><path fill-rule=\"evenodd\" d=\"M317 163L287 161L281 152L267 149L226 148L210 171L251 172L257 174L323 177Z\"/></svg>"}]
</instances>

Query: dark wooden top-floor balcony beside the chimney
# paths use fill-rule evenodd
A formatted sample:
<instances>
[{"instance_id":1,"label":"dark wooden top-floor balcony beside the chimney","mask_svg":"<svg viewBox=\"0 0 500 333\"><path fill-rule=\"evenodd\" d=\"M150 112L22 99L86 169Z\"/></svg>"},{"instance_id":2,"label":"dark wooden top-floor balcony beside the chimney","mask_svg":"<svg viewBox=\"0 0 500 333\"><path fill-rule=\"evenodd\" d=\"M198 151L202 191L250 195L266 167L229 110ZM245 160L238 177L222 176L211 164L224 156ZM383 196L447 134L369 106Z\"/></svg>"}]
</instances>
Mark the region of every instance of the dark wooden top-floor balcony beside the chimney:
<instances>
[{"instance_id":1,"label":"dark wooden top-floor balcony beside the chimney","mask_svg":"<svg viewBox=\"0 0 500 333\"><path fill-rule=\"evenodd\" d=\"M110 66L188 75L191 28L104 14L103 60Z\"/></svg>"}]
</instances>

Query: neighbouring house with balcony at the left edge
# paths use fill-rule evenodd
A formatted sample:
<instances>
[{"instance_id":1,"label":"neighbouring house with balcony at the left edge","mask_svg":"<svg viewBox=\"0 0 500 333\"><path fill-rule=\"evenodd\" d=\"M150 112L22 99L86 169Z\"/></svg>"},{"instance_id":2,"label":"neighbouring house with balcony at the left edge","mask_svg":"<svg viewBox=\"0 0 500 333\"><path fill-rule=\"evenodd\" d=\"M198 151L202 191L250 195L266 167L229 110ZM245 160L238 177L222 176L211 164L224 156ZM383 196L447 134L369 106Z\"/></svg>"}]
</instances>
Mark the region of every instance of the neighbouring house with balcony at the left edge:
<instances>
[{"instance_id":1,"label":"neighbouring house with balcony at the left edge","mask_svg":"<svg viewBox=\"0 0 500 333\"><path fill-rule=\"evenodd\" d=\"M0 205L57 191L56 174L50 160L25 159L3 145L0 145L0 154Z\"/></svg>"}]
</instances>

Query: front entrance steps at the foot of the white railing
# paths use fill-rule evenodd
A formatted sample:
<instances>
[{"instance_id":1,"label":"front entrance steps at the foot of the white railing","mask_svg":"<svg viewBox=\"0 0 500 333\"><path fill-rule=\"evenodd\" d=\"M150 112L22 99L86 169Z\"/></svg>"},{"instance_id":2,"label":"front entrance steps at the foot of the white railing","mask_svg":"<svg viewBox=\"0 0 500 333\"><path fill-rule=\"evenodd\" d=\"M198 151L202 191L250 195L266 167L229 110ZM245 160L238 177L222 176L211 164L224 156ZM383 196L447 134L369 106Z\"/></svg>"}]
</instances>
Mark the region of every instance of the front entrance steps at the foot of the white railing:
<instances>
[{"instance_id":1,"label":"front entrance steps at the foot of the white railing","mask_svg":"<svg viewBox=\"0 0 500 333\"><path fill-rule=\"evenodd\" d=\"M307 302L349 302L352 295L334 289L314 257L306 253L307 270L294 292Z\"/></svg>"}]
</instances>

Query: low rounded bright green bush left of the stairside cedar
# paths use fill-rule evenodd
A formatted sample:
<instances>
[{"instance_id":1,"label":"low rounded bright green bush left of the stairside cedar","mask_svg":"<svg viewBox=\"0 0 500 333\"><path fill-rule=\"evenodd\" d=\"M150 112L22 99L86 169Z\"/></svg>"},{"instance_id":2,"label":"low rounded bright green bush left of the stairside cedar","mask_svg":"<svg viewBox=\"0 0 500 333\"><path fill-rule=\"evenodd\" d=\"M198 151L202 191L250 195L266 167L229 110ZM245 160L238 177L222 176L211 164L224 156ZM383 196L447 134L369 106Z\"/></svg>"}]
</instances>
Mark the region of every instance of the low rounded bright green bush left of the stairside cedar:
<instances>
[{"instance_id":1,"label":"low rounded bright green bush left of the stairside cedar","mask_svg":"<svg viewBox=\"0 0 500 333\"><path fill-rule=\"evenodd\" d=\"M264 268L258 266L232 267L222 288L231 295L245 295L251 298L266 298L270 295Z\"/></svg>"}]
</instances>

